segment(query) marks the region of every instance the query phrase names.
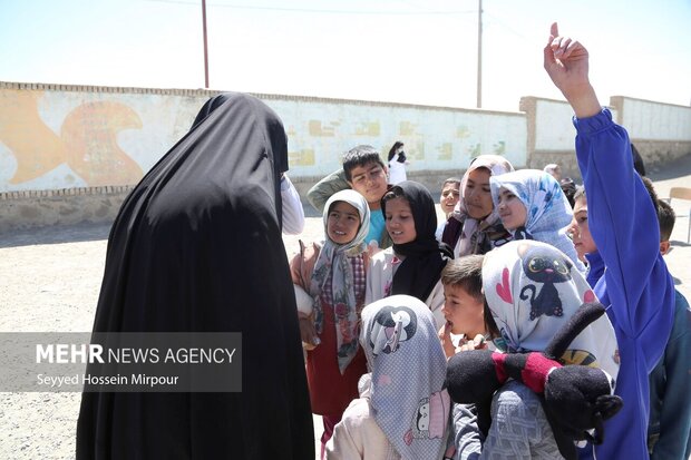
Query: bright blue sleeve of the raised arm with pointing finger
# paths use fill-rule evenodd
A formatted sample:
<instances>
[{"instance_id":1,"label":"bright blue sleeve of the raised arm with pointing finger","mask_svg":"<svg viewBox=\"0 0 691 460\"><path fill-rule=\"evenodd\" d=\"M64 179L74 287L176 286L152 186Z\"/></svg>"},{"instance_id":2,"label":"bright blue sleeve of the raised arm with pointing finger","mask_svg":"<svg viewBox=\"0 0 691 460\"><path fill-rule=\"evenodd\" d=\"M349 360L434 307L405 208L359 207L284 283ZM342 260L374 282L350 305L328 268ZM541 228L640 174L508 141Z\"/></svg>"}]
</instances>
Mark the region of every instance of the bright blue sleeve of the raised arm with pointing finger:
<instances>
[{"instance_id":1,"label":"bright blue sleeve of the raised arm with pointing finger","mask_svg":"<svg viewBox=\"0 0 691 460\"><path fill-rule=\"evenodd\" d=\"M629 135L612 121L607 109L574 119L574 125L590 231L606 266L606 294L616 327L630 337L642 336L645 343L665 341L673 285L660 255L653 203L633 169ZM651 349L649 369L660 358L659 350Z\"/></svg>"}]
</instances>

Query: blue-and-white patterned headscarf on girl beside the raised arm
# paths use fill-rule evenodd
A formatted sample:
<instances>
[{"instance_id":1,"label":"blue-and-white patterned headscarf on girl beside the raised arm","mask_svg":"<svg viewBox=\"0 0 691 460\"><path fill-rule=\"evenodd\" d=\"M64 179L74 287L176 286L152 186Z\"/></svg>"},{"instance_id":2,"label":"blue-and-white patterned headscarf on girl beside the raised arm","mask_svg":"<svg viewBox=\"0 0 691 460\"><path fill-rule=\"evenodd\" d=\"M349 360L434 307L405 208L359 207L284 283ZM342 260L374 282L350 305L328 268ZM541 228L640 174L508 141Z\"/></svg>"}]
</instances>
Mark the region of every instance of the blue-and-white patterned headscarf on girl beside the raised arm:
<instances>
[{"instance_id":1,"label":"blue-and-white patterned headscarf on girl beside the raised arm","mask_svg":"<svg viewBox=\"0 0 691 460\"><path fill-rule=\"evenodd\" d=\"M526 208L524 227L510 231L514 239L537 239L566 254L578 272L585 266L578 260L573 242L566 235L573 212L559 183L548 173L520 169L489 178L494 207L499 206L499 192L506 188L520 199Z\"/></svg>"}]
</instances>

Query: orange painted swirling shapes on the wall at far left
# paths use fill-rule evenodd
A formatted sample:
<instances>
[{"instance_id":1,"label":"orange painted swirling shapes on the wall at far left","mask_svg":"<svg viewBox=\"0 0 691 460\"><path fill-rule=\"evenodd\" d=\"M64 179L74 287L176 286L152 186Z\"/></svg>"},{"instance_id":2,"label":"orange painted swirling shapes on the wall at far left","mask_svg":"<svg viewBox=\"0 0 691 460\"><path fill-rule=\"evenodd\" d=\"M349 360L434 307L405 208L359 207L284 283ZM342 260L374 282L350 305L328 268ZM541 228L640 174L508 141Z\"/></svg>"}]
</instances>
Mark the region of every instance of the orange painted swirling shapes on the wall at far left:
<instances>
[{"instance_id":1,"label":"orange painted swirling shapes on the wall at far left","mask_svg":"<svg viewBox=\"0 0 691 460\"><path fill-rule=\"evenodd\" d=\"M61 165L74 174L65 176L67 183L79 177L87 186L134 184L142 177L142 167L117 144L121 130L142 128L142 119L128 106L84 102L67 112L55 129L39 114L43 91L3 92L0 141L16 162L9 184L32 182Z\"/></svg>"}]
</instances>

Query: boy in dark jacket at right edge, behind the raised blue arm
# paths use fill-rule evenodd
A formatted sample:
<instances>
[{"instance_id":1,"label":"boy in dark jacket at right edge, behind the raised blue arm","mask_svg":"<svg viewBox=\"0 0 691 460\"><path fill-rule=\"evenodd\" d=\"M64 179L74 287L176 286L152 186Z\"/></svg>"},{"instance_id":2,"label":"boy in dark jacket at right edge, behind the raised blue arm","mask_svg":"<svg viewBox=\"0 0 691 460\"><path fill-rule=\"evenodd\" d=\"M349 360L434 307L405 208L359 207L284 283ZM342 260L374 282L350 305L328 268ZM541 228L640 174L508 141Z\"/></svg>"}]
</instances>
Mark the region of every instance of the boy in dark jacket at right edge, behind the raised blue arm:
<instances>
[{"instance_id":1,"label":"boy in dark jacket at right edge, behind the raised blue arm","mask_svg":"<svg viewBox=\"0 0 691 460\"><path fill-rule=\"evenodd\" d=\"M677 216L659 203L660 253L670 252ZM650 373L650 424L648 448L654 460L688 459L691 454L691 310L677 290L674 324L662 359Z\"/></svg>"}]
</instances>

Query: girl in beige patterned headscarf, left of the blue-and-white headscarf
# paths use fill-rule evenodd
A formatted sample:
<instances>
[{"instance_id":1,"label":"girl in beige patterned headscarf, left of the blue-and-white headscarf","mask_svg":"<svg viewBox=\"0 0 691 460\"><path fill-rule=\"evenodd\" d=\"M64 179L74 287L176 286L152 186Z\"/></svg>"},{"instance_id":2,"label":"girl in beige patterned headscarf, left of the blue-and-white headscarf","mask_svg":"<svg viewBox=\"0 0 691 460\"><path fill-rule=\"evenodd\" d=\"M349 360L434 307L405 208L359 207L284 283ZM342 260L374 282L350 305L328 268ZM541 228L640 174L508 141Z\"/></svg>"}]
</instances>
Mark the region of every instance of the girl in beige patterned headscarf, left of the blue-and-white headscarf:
<instances>
[{"instance_id":1,"label":"girl in beige patterned headscarf, left of the blue-and-white headscarf","mask_svg":"<svg viewBox=\"0 0 691 460\"><path fill-rule=\"evenodd\" d=\"M512 164L498 155L480 155L470 163L460 182L460 200L441 236L456 258L485 254L510 238L492 203L489 177L512 170Z\"/></svg>"}]
</instances>

